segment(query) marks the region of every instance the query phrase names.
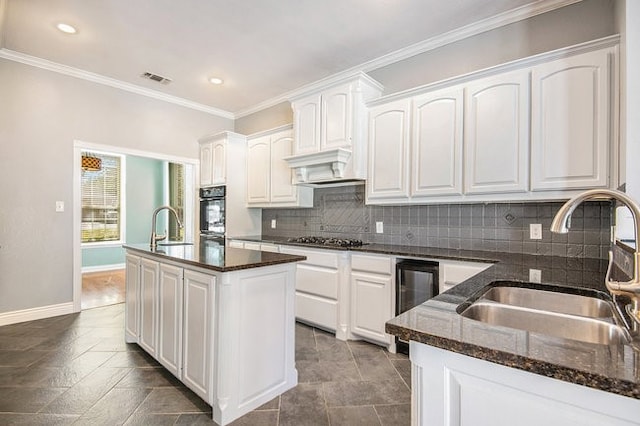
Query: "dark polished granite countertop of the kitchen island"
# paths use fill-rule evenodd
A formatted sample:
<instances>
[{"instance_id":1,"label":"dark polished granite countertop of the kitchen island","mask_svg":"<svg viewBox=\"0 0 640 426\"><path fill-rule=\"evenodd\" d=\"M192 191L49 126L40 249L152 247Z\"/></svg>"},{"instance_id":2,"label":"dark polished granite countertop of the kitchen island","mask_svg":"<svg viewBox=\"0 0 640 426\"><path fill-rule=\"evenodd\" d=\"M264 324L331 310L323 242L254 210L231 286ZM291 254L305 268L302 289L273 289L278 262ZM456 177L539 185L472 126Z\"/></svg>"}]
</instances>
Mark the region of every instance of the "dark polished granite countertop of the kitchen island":
<instances>
[{"instance_id":1,"label":"dark polished granite countertop of the kitchen island","mask_svg":"<svg viewBox=\"0 0 640 426\"><path fill-rule=\"evenodd\" d=\"M241 269L261 268L281 263L299 262L304 256L283 253L245 250L231 247L193 245L166 245L151 249L149 244L124 244L127 250L180 262L216 272L230 272Z\"/></svg>"}]
</instances>

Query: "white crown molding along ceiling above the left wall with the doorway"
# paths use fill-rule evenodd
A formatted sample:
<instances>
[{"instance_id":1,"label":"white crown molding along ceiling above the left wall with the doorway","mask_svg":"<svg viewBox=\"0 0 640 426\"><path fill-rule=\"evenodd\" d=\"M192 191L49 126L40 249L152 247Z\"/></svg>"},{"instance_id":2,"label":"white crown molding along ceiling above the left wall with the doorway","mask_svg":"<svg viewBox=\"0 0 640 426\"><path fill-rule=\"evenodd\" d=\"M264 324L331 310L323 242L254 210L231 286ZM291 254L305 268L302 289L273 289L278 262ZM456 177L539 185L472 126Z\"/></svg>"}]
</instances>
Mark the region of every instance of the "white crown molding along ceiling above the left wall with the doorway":
<instances>
[{"instance_id":1,"label":"white crown molding along ceiling above the left wall with the doorway","mask_svg":"<svg viewBox=\"0 0 640 426\"><path fill-rule=\"evenodd\" d=\"M0 0L2 2L3 0ZM0 6L2 4L0 3ZM145 87L137 86L135 84L125 83L114 78L105 77L104 75L84 71L79 68L62 65L57 62L48 61L46 59L38 58L36 56L27 55L24 53L16 52L10 49L0 49L0 58L8 59L14 62L20 62L25 65L30 65L37 68L42 68L48 71L57 72L59 74L68 75L71 77L80 78L82 80L91 81L93 83L103 84L105 86L114 87L116 89L124 90L126 92L135 93L138 95L146 96L149 98L157 99L164 102L169 102L175 105L180 105L185 108L190 108L196 111L205 112L207 114L215 115L222 118L228 118L234 120L235 114L229 111L225 111L218 108L213 108L208 105L204 105L198 102L189 101L177 96L167 95L156 90L147 89Z\"/></svg>"}]
</instances>

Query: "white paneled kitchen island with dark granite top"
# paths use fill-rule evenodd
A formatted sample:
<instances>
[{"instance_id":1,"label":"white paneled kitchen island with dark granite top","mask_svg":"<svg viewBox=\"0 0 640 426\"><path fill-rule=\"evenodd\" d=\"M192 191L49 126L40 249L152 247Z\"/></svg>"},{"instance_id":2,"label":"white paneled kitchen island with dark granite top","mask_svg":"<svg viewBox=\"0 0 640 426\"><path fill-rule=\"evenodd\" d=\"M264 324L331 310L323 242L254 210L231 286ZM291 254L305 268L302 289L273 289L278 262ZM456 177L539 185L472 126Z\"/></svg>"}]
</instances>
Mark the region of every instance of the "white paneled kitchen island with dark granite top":
<instances>
[{"instance_id":1,"label":"white paneled kitchen island with dark granite top","mask_svg":"<svg viewBox=\"0 0 640 426\"><path fill-rule=\"evenodd\" d=\"M295 262L195 245L125 245L125 336L226 425L297 384Z\"/></svg>"}]
</instances>

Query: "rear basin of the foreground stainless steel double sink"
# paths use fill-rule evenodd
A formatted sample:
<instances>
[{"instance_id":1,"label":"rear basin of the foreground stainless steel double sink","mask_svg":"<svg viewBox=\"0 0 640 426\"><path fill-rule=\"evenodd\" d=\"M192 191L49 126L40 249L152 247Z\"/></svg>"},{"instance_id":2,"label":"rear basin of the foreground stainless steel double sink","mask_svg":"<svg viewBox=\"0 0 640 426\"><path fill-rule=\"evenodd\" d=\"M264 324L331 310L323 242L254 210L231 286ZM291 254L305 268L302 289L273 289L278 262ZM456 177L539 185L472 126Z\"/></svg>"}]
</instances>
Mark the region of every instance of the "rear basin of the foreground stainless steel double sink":
<instances>
[{"instance_id":1,"label":"rear basin of the foreground stainless steel double sink","mask_svg":"<svg viewBox=\"0 0 640 426\"><path fill-rule=\"evenodd\" d=\"M590 318L613 317L613 308L606 300L532 288L493 287L480 300Z\"/></svg>"}]
</instances>

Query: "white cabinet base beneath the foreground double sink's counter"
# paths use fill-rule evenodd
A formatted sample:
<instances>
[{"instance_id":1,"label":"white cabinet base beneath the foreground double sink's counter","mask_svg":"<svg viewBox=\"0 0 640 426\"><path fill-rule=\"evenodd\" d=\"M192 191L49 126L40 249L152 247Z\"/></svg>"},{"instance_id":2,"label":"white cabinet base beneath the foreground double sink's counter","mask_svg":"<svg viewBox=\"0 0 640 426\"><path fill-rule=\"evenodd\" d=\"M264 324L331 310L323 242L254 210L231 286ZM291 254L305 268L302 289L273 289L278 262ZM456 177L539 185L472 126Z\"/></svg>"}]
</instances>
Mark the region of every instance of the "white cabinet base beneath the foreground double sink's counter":
<instances>
[{"instance_id":1,"label":"white cabinet base beneath the foreground double sink's counter","mask_svg":"<svg viewBox=\"0 0 640 426\"><path fill-rule=\"evenodd\" d=\"M640 400L410 344L414 426L640 424Z\"/></svg>"}]
</instances>

